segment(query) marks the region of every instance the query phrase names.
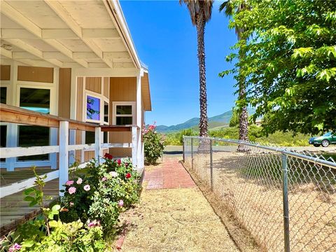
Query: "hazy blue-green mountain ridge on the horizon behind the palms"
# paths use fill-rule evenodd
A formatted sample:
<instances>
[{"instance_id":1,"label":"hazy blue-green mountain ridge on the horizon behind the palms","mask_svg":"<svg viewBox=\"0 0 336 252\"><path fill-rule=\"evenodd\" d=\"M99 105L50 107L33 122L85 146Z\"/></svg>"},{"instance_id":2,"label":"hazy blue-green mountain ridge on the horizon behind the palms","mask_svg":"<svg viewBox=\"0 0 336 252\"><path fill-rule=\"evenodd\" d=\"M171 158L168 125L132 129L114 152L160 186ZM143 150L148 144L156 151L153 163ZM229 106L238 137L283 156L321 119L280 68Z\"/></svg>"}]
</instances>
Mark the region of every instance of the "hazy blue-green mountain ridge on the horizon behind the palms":
<instances>
[{"instance_id":1,"label":"hazy blue-green mountain ridge on the horizon behind the palms","mask_svg":"<svg viewBox=\"0 0 336 252\"><path fill-rule=\"evenodd\" d=\"M251 116L255 113L255 109L248 108L248 115ZM230 123L230 119L232 117L232 110L226 111L218 116L213 116L208 118L209 129L214 127L222 127L227 126ZM198 123L200 123L199 118L191 118L184 123L180 123L178 125L166 126L166 125L158 125L156 130L160 133L169 133L176 132L179 130L186 130L191 127L197 127Z\"/></svg>"}]
</instances>

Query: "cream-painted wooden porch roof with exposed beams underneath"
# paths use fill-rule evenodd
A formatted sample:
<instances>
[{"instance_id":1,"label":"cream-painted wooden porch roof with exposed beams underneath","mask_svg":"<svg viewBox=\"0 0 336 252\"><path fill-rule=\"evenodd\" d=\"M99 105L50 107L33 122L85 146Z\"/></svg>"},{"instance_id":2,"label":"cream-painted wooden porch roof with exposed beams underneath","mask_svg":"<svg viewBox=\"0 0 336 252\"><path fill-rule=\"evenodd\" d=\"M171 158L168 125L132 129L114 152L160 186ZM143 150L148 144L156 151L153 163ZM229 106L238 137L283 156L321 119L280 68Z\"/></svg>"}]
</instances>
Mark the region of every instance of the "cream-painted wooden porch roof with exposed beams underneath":
<instances>
[{"instance_id":1,"label":"cream-painted wooden porch roof with exposed beams underneath","mask_svg":"<svg viewBox=\"0 0 336 252\"><path fill-rule=\"evenodd\" d=\"M29 66L141 69L118 1L1 1L1 58Z\"/></svg>"}]
</instances>

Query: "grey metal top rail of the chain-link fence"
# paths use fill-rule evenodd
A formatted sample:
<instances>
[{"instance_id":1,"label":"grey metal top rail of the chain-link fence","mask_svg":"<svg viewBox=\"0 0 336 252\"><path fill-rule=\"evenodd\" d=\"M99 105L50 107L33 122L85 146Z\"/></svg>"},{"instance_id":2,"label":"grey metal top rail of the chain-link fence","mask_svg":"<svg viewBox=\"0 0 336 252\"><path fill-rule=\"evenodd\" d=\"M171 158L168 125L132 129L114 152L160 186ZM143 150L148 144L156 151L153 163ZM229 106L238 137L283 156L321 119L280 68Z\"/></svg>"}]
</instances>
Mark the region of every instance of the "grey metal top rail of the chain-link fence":
<instances>
[{"instance_id":1,"label":"grey metal top rail of the chain-link fence","mask_svg":"<svg viewBox=\"0 0 336 252\"><path fill-rule=\"evenodd\" d=\"M309 153L308 151L304 151L304 154L302 153L297 153L293 150L290 150L286 147L280 147L280 146L263 146L261 144L258 143L253 143L251 141L241 141L241 140L236 140L236 139L221 139L218 137L195 137L195 136L183 136L183 139L209 139L209 140L214 140L214 141L223 141L226 143L230 143L230 144L244 144L245 146L251 146L251 147L257 147L257 148L262 148L268 151L275 151L277 153L282 153L282 154L286 154L288 156L294 157L294 158L300 158L302 160L307 160L310 162L314 162L318 165L323 165L323 166L327 166L333 169L336 169L336 162L332 162L332 161L328 161L325 160L324 157L321 156L317 156L314 154Z\"/></svg>"}]
</instances>

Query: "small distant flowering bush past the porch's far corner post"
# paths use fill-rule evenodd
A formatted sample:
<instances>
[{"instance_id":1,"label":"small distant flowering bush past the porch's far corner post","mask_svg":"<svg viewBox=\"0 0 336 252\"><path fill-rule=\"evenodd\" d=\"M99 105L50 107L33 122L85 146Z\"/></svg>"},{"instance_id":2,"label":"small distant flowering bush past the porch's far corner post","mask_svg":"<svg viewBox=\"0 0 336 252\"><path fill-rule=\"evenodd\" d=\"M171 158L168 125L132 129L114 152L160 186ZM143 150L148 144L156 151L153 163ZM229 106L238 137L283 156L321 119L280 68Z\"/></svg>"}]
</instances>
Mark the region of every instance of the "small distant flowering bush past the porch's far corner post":
<instances>
[{"instance_id":1,"label":"small distant flowering bush past the porch's far corner post","mask_svg":"<svg viewBox=\"0 0 336 252\"><path fill-rule=\"evenodd\" d=\"M155 125L149 125L142 132L146 165L155 165L165 149L165 137L158 134Z\"/></svg>"}]
</instances>

